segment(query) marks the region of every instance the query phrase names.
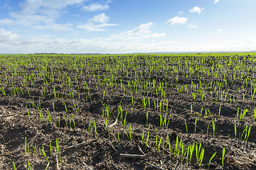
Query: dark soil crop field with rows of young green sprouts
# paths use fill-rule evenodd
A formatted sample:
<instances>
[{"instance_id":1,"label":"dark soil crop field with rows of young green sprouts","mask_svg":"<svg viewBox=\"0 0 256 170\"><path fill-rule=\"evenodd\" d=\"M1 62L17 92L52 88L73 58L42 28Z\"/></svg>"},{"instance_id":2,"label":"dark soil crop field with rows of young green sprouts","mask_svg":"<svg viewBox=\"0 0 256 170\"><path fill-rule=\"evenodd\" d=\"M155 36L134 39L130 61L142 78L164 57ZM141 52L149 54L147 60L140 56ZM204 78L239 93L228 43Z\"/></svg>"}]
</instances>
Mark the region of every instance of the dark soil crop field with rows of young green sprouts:
<instances>
[{"instance_id":1,"label":"dark soil crop field with rows of young green sprouts","mask_svg":"<svg viewBox=\"0 0 256 170\"><path fill-rule=\"evenodd\" d=\"M0 55L0 169L256 169L256 53Z\"/></svg>"}]
</instances>

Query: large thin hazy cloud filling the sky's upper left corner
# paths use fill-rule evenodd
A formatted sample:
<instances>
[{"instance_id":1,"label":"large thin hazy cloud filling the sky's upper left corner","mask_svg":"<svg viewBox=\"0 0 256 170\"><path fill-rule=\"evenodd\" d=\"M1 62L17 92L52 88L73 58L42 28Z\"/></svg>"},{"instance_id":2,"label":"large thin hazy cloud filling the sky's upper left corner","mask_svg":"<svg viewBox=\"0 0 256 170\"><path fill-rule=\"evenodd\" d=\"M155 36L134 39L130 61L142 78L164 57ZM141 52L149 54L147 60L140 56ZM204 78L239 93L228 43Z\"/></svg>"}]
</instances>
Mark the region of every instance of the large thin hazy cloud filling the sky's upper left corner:
<instances>
[{"instance_id":1,"label":"large thin hazy cloud filling the sky's upper left corner","mask_svg":"<svg viewBox=\"0 0 256 170\"><path fill-rule=\"evenodd\" d=\"M55 18L60 17L67 6L81 4L82 1L85 0L26 0L19 4L21 11L9 13L12 18L1 19L0 24L39 29L70 30L70 23L56 24Z\"/></svg>"}]
</instances>

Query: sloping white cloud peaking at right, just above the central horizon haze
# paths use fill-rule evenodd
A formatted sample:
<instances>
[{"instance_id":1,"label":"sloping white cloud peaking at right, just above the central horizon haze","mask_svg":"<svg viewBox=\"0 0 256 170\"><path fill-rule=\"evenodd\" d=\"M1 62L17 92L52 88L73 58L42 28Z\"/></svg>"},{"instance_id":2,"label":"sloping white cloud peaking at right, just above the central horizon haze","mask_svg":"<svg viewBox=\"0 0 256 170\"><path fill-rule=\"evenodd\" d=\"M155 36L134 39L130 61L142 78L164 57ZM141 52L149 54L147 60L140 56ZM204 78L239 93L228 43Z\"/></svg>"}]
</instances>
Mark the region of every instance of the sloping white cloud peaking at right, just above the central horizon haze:
<instances>
[{"instance_id":1,"label":"sloping white cloud peaking at right, just above the central horizon haze","mask_svg":"<svg viewBox=\"0 0 256 170\"><path fill-rule=\"evenodd\" d=\"M110 38L118 40L144 40L150 38L160 38L164 37L165 33L152 33L151 27L153 23L142 23L137 28L133 30L127 30L123 33L111 35Z\"/></svg>"}]
</instances>

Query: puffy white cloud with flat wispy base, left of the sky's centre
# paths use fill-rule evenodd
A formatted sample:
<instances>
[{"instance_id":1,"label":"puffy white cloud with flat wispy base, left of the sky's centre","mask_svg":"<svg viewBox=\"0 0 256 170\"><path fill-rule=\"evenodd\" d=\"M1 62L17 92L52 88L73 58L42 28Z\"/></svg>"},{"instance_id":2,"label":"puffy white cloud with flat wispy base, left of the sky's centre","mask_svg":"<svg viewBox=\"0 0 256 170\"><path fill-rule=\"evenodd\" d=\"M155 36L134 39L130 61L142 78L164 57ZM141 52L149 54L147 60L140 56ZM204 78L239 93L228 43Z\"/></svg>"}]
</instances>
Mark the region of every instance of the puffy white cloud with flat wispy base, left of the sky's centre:
<instances>
[{"instance_id":1,"label":"puffy white cloud with flat wispy base, left of the sky's centre","mask_svg":"<svg viewBox=\"0 0 256 170\"><path fill-rule=\"evenodd\" d=\"M90 31L103 31L105 27L109 26L118 26L118 24L115 23L107 23L109 21L110 17L106 16L105 13L100 13L97 16L93 16L90 18L87 23L83 23L78 25L78 28L85 29L87 32ZM100 23L100 24L97 24Z\"/></svg>"}]
</instances>

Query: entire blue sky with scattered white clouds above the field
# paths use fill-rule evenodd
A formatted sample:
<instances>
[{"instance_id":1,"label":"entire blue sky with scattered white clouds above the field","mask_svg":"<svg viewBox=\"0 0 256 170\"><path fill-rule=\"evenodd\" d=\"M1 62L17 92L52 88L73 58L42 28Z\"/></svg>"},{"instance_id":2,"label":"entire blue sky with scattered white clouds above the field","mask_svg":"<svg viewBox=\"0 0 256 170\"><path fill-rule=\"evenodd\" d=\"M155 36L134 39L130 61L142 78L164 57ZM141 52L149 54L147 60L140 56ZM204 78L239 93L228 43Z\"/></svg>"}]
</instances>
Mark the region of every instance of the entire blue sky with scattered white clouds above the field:
<instances>
[{"instance_id":1,"label":"entire blue sky with scattered white clouds above the field","mask_svg":"<svg viewBox=\"0 0 256 170\"><path fill-rule=\"evenodd\" d=\"M255 0L0 0L0 53L256 50Z\"/></svg>"}]
</instances>

